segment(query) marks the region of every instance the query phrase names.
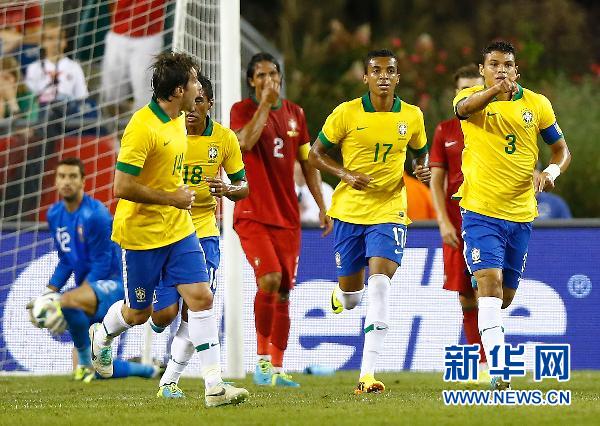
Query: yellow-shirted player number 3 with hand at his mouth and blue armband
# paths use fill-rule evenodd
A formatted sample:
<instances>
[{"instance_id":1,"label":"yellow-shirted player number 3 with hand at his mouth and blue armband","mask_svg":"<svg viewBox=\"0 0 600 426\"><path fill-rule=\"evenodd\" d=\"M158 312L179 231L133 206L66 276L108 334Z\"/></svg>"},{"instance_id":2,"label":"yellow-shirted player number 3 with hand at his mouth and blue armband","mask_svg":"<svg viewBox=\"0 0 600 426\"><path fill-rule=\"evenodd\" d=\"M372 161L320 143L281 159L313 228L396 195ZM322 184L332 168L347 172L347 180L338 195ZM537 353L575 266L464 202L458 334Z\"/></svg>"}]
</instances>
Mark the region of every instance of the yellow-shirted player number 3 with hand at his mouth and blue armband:
<instances>
[{"instance_id":1,"label":"yellow-shirted player number 3 with hand at his mouth and blue armband","mask_svg":"<svg viewBox=\"0 0 600 426\"><path fill-rule=\"evenodd\" d=\"M554 188L571 154L550 101L517 83L515 49L504 41L483 50L479 72L484 86L461 90L454 109L465 139L460 199L464 255L479 294L479 332L490 368L492 389L510 387L504 369L501 309L510 305L525 269L535 192ZM537 135L550 146L550 165L533 178ZM496 348L497 347L497 348ZM496 348L496 349L494 349Z\"/></svg>"}]
</instances>

